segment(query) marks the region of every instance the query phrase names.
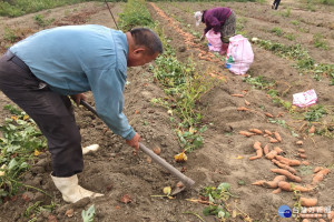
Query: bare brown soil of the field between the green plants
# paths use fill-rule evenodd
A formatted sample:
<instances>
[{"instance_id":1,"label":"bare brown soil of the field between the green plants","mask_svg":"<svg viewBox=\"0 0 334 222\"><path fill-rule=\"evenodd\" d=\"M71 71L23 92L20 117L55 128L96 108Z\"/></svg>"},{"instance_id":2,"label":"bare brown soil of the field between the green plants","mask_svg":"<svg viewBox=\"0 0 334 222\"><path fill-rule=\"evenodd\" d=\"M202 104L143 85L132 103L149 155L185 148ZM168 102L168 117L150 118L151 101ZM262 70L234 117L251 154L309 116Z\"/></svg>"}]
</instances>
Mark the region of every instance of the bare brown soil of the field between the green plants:
<instances>
[{"instance_id":1,"label":"bare brown soil of the field between the green plants","mask_svg":"<svg viewBox=\"0 0 334 222\"><path fill-rule=\"evenodd\" d=\"M121 11L121 3L110 4L114 14ZM89 190L104 193L104 198L96 200L82 200L76 204L67 204L62 201L59 191L55 188L50 174L50 157L48 153L39 157L39 163L31 172L24 175L24 183L42 189L55 196L50 198L29 190L26 195L29 199L22 199L21 194L6 202L0 206L0 221L28 221L22 216L24 210L36 201L43 201L49 204L55 201L59 206L52 213L42 213L38 221L51 221L56 216L58 221L81 221L81 211L87 210L95 204L95 221L200 221L195 214L200 215L205 221L218 221L214 216L204 216L204 204L193 203L188 199L197 199L203 188L207 185L217 186L222 182L228 182L232 185L232 193L238 198L228 202L228 208L238 212L236 218L229 221L245 221L247 215L253 220L261 221L288 221L281 219L277 210L286 204L293 208L293 192L282 192L273 194L271 189L252 185L257 180L272 180L275 174L271 169L276 168L269 160L262 158L249 161L248 158L255 155L253 144L255 141L262 144L268 143L268 139L263 135L246 138L238 132L257 128L267 129L272 132L277 131L283 138L278 143L287 158L296 158L297 147L295 142L303 140L303 149L306 152L310 167L296 167L297 174L302 176L303 185L312 181L312 170L315 167L333 167L334 149L332 139L311 135L307 133L305 121L294 119L294 115L286 112L282 107L275 105L266 94L266 91L256 90L244 81L244 77L234 75L224 68L223 64L208 62L198 59L198 50L207 51L204 44L187 46L178 29L173 28L174 23L185 32L195 30L202 32L203 26L195 27L193 12L208 9L217 6L229 7L235 10L238 19L243 19L244 30L249 37L257 37L265 40L277 41L284 44L301 43L310 51L316 62L333 63L334 61L334 10L333 7L315 7L315 11L307 11L306 4L295 1L282 1L277 11L271 9L271 2L266 3L186 3L186 2L166 2L156 3L156 7L165 11L168 18L157 13L151 4L148 8L155 20L158 20L164 28L165 34L171 41L171 46L177 49L179 60L186 61L193 58L196 61L198 72L216 72L227 81L210 90L202 98L200 108L204 110L205 122L208 130L203 133L203 148L188 153L186 163L175 163L174 155L181 151L173 124L169 121L167 110L155 107L150 103L154 98L164 94L159 85L154 81L148 65L128 70L129 84L125 90L125 113L131 125L140 133L143 143L148 148L161 149L160 157L179 170L196 184L194 188L169 200L164 198L153 198L151 195L163 194L163 188L174 186L177 179L170 175L158 164L148 160L147 155L139 152L134 155L132 149L125 144L125 141L118 135L112 134L107 127L85 108L76 108L77 122L82 135L82 145L99 143L101 149L94 154L85 157L85 170L79 174L80 184ZM283 17L291 10L288 17ZM98 23L115 28L109 11L101 3L82 3L70 7L58 8L39 12L47 19L55 18L56 21L50 26ZM28 14L21 18L9 19L1 18L0 36L3 34L4 27L17 30L20 38L41 30L33 22L35 14ZM177 22L180 21L180 22ZM298 28L291 21L299 21ZM47 27L47 28L50 28ZM279 28L284 33L293 33L296 39L289 41L286 38L277 37L271 32L273 28ZM308 30L307 32L301 32ZM313 36L322 33L327 41L328 50L315 48ZM1 41L1 52L10 42ZM186 49L186 50L185 50ZM268 80L276 80L275 90L283 93L283 99L292 101L294 93L315 89L318 103L331 105L334 103L332 97L333 87L330 87L330 79L322 77L322 81L316 81L310 75L299 75L297 70L292 68L293 61L278 58L272 52L253 44L255 61L250 70L253 77L264 75ZM234 93L245 92L245 98L230 97ZM88 101L94 105L90 93L87 93ZM0 94L0 105L11 103L3 94ZM252 112L238 112L238 107L246 107L245 99L250 103L248 109ZM333 108L332 108L333 109ZM4 110L0 111L2 117L9 115ZM275 120L285 121L288 128L268 122L264 112L274 114ZM333 114L333 110L328 111ZM279 114L281 113L281 114ZM333 115L332 115L333 117ZM331 123L331 119L327 120ZM321 124L314 123L316 128ZM298 133L295 138L291 133L293 129ZM275 145L276 147L276 145ZM274 144L269 144L273 149ZM237 157L242 157L238 159ZM299 159L301 160L301 159ZM243 184L242 181L245 183ZM334 176L331 172L312 192L303 196L313 196L318 199L318 205L328 206L333 204L334 199ZM129 194L130 203L122 203L120 199ZM73 216L69 218L66 212L73 209ZM332 205L333 209L333 205ZM186 213L188 212L188 213Z\"/></svg>"}]
</instances>

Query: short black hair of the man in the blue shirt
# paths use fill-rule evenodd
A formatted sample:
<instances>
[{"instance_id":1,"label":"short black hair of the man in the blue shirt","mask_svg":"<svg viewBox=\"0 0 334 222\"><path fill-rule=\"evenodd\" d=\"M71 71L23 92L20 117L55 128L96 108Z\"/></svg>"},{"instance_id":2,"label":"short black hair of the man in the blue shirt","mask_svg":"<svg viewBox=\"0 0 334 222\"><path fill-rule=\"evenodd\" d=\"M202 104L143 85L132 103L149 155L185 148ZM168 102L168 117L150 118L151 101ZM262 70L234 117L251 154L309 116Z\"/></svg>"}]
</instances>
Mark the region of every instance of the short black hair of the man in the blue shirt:
<instances>
[{"instance_id":1,"label":"short black hair of the man in the blue shirt","mask_svg":"<svg viewBox=\"0 0 334 222\"><path fill-rule=\"evenodd\" d=\"M155 54L164 52L163 43L159 37L147 28L136 28L130 30L130 33L134 38L135 44L137 47L145 47L148 50L148 54Z\"/></svg>"}]
</instances>

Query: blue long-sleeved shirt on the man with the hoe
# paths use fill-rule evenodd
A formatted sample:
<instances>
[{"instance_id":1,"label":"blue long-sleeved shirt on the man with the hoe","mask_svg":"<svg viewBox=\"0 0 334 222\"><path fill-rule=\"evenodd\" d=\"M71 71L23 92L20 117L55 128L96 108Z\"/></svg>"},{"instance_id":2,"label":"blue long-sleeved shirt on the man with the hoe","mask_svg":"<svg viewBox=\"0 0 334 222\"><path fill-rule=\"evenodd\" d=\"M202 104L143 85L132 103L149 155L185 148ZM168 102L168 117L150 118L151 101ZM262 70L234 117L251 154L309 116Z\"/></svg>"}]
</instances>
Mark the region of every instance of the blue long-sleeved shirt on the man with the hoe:
<instances>
[{"instance_id":1,"label":"blue long-sleeved shirt on the man with the hoe","mask_svg":"<svg viewBox=\"0 0 334 222\"><path fill-rule=\"evenodd\" d=\"M126 140L135 137L122 113L128 54L125 33L97 24L58 27L28 37L10 51L57 93L91 91L105 123Z\"/></svg>"}]
</instances>

